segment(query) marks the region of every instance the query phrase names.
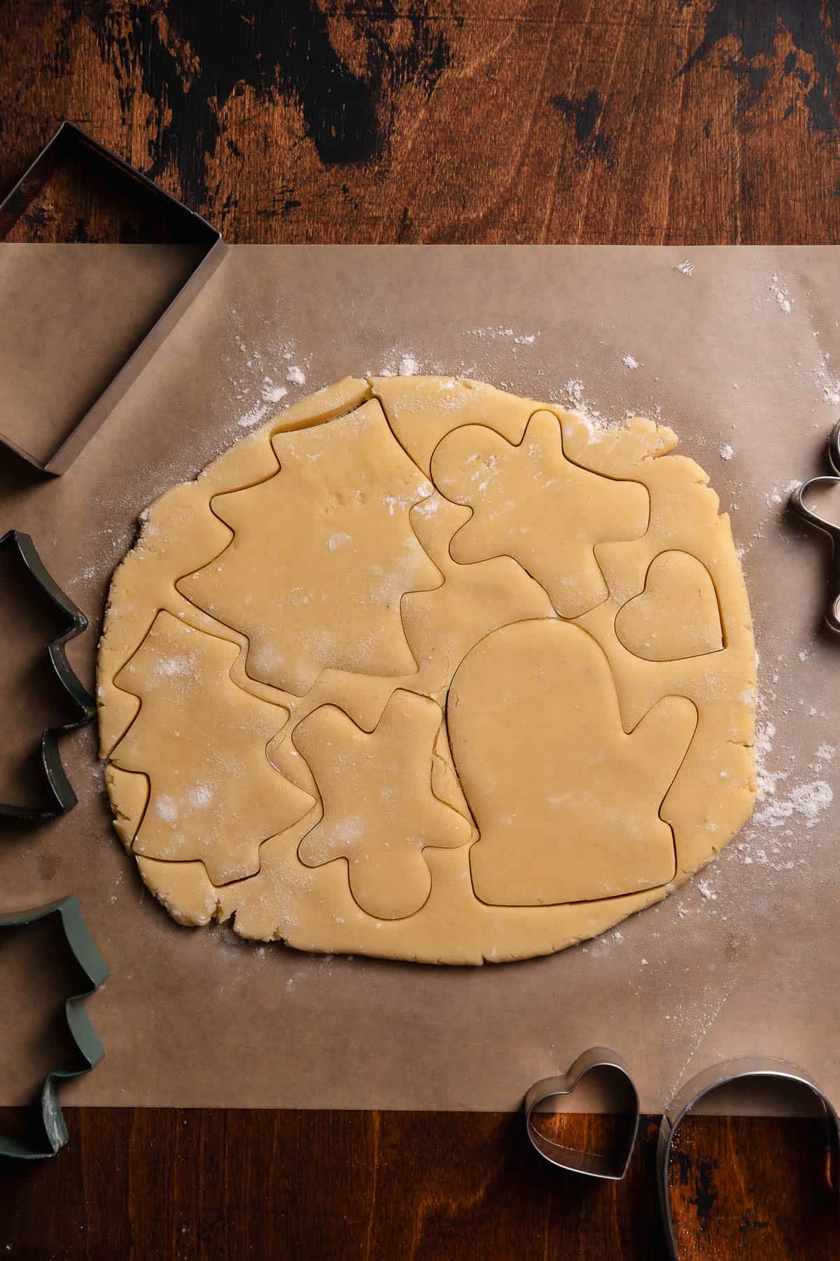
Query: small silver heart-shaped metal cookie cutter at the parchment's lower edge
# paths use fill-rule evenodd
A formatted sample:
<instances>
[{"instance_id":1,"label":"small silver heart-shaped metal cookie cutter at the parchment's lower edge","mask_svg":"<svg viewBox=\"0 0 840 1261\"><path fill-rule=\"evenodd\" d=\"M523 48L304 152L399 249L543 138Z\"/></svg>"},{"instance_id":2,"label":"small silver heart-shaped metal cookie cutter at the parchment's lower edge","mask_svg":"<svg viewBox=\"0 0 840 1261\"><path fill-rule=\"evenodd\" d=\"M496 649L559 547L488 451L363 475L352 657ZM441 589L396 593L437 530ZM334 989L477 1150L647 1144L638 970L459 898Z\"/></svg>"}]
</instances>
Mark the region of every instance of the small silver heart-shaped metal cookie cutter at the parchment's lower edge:
<instances>
[{"instance_id":1,"label":"small silver heart-shaped metal cookie cutter at the parchment's lower edge","mask_svg":"<svg viewBox=\"0 0 840 1261\"><path fill-rule=\"evenodd\" d=\"M544 1134L540 1134L533 1120L540 1103L558 1095L570 1095L581 1079L593 1069L608 1073L613 1083L618 1086L620 1093L630 1103L627 1134L618 1149L608 1155L579 1151L576 1148L553 1142ZM607 1047L591 1047L589 1050L584 1050L574 1061L568 1073L560 1077L544 1077L543 1081L535 1082L525 1096L524 1108L528 1137L533 1148L549 1164L557 1165L558 1169L568 1169L576 1174L587 1174L589 1178L603 1178L608 1182L618 1182L627 1173L639 1132L639 1092L627 1066L615 1050L610 1050Z\"/></svg>"}]
</instances>

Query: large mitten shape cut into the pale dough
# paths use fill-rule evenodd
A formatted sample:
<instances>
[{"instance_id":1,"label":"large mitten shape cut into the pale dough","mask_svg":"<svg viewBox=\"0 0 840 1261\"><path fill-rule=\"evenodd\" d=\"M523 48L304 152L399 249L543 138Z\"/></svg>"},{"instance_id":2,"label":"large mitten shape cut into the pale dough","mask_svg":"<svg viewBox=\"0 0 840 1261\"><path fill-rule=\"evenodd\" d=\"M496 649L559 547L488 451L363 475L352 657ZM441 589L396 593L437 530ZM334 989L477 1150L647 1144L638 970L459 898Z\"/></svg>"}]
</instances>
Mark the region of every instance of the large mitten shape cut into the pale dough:
<instances>
[{"instance_id":1,"label":"large mitten shape cut into the pale dough","mask_svg":"<svg viewBox=\"0 0 840 1261\"><path fill-rule=\"evenodd\" d=\"M696 726L690 701L666 696L627 734L598 643L533 620L467 653L447 723L480 832L470 864L482 902L613 898L674 876L660 807Z\"/></svg>"}]
</instances>

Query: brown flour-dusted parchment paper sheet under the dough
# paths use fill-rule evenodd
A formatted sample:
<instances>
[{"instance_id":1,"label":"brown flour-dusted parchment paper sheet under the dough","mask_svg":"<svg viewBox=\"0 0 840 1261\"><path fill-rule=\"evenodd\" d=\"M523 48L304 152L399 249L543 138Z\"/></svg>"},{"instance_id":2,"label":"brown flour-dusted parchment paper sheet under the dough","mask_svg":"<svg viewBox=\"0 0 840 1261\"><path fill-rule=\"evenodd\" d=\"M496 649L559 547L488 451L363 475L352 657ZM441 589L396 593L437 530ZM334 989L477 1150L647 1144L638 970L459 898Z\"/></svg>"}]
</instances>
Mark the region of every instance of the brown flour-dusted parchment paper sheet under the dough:
<instances>
[{"instance_id":1,"label":"brown flour-dusted parchment paper sheet under the dough","mask_svg":"<svg viewBox=\"0 0 840 1261\"><path fill-rule=\"evenodd\" d=\"M132 247L28 248L44 251L48 276L50 248ZM754 822L604 939L495 967L321 958L179 928L112 835L94 729L68 739L77 810L0 835L0 907L77 892L112 968L89 1002L107 1057L65 1098L513 1110L534 1079L604 1043L650 1111L715 1059L758 1052L800 1062L840 1100L840 643L820 630L825 547L785 520L790 483L822 470L840 410L840 253L698 248L678 270L684 260L642 247L238 247L64 477L28 480L3 458L0 528L30 531L92 615L71 653L92 680L137 513L276 410L280 388L293 401L402 367L651 415L732 512L761 652ZM0 1010L15 1001L0 958ZM0 1074L0 1103L23 1079Z\"/></svg>"}]
</instances>

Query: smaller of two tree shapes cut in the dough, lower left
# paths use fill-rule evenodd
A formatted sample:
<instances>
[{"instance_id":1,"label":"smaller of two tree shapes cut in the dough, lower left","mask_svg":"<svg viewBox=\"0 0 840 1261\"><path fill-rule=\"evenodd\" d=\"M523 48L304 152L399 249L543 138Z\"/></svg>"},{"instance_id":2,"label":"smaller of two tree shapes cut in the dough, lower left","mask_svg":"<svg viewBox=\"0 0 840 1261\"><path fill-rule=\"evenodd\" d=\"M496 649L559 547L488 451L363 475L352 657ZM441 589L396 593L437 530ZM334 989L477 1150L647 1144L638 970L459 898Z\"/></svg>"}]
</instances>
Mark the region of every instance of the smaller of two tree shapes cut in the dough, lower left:
<instances>
[{"instance_id":1,"label":"smaller of two tree shapes cut in the dough, lower left","mask_svg":"<svg viewBox=\"0 0 840 1261\"><path fill-rule=\"evenodd\" d=\"M258 871L261 844L315 805L268 762L287 710L232 682L238 652L161 612L117 675L141 705L112 763L150 783L133 850L201 859L217 885Z\"/></svg>"}]
</instances>

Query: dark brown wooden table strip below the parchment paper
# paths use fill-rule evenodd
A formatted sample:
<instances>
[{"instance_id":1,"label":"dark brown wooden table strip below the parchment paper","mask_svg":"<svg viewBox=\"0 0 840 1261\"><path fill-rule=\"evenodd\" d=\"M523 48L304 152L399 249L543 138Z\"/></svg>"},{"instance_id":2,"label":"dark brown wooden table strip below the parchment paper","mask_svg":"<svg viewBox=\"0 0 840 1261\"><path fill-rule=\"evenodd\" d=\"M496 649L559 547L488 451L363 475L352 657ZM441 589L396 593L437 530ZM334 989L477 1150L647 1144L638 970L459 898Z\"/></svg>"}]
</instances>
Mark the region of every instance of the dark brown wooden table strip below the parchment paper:
<instances>
[{"instance_id":1,"label":"dark brown wooden table strip below the parchment paper","mask_svg":"<svg viewBox=\"0 0 840 1261\"><path fill-rule=\"evenodd\" d=\"M0 1122L6 1116L0 1112ZM625 1182L549 1169L506 1113L68 1110L54 1161L0 1174L0 1255L312 1261L660 1261L656 1122ZM604 1144L611 1121L564 1131ZM681 1256L829 1261L816 1122L686 1124Z\"/></svg>"}]
</instances>

